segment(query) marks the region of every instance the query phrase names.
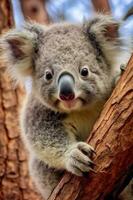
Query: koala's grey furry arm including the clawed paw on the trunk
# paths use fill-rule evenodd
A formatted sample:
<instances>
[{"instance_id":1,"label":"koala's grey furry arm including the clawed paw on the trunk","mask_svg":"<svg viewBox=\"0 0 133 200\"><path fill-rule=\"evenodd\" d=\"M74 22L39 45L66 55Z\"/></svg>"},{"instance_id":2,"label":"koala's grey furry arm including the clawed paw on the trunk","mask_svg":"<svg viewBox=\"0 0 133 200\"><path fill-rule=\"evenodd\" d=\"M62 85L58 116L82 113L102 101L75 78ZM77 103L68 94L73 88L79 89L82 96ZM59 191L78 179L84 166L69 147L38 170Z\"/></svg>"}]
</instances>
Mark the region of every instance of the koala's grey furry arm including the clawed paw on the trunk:
<instances>
[{"instance_id":1,"label":"koala's grey furry arm including the clawed paw on the trunk","mask_svg":"<svg viewBox=\"0 0 133 200\"><path fill-rule=\"evenodd\" d=\"M74 134L65 130L63 117L30 100L21 119L23 136L30 152L50 167L82 175L91 169L93 163L89 156L93 148L76 141Z\"/></svg>"}]
</instances>

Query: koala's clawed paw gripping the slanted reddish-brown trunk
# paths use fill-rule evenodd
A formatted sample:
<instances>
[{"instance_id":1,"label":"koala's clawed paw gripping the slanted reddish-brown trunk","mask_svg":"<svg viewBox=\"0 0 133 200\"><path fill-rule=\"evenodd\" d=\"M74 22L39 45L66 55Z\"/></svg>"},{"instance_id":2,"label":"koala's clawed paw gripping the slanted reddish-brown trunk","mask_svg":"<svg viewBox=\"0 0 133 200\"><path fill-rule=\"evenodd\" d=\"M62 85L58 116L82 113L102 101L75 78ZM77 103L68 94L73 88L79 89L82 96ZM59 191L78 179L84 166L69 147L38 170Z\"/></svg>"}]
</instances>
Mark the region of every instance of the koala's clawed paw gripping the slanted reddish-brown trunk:
<instances>
[{"instance_id":1,"label":"koala's clawed paw gripping the slanted reddish-brown trunk","mask_svg":"<svg viewBox=\"0 0 133 200\"><path fill-rule=\"evenodd\" d=\"M93 171L94 163L90 159L93 153L93 147L85 142L72 145L66 153L66 169L77 176Z\"/></svg>"}]
</instances>

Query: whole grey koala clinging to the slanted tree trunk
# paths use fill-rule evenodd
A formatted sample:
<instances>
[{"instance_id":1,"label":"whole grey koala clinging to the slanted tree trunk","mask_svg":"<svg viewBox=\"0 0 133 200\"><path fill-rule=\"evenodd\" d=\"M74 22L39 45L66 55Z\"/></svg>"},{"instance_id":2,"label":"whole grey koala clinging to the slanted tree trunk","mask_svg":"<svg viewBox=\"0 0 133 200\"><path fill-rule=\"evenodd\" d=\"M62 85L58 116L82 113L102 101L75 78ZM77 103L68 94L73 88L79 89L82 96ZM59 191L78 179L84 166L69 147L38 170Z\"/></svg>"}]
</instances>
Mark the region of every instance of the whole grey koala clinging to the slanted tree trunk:
<instances>
[{"instance_id":1,"label":"whole grey koala clinging to the slanted tree trunk","mask_svg":"<svg viewBox=\"0 0 133 200\"><path fill-rule=\"evenodd\" d=\"M26 23L0 39L0 53L15 80L30 77L21 114L29 170L48 199L64 170L93 171L85 141L120 74L119 22L99 14L84 24Z\"/></svg>"}]
</instances>

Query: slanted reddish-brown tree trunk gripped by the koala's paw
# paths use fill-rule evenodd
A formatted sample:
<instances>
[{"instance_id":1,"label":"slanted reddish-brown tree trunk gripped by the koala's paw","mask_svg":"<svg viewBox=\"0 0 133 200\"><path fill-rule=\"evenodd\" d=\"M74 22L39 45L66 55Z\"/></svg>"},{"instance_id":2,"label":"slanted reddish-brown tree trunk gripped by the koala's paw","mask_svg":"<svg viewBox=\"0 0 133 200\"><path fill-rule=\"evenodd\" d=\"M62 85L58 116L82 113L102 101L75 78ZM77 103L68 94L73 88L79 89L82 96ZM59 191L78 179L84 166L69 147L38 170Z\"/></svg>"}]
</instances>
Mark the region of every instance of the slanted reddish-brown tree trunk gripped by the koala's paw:
<instances>
[{"instance_id":1,"label":"slanted reddish-brown tree trunk gripped by the koala's paw","mask_svg":"<svg viewBox=\"0 0 133 200\"><path fill-rule=\"evenodd\" d=\"M112 200L133 174L133 56L87 141L96 150L95 173L66 173L49 200Z\"/></svg>"}]
</instances>

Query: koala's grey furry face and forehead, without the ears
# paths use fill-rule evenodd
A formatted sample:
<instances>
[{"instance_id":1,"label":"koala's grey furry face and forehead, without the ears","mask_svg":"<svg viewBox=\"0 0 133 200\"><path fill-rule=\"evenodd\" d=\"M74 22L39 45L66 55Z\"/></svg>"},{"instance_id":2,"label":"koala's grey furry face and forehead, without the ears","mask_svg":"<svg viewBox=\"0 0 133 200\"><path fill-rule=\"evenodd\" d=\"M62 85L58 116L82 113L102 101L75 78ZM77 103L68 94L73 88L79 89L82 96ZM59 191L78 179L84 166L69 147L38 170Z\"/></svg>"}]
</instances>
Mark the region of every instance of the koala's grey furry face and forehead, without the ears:
<instances>
[{"instance_id":1,"label":"koala's grey furry face and forehead, without the ears","mask_svg":"<svg viewBox=\"0 0 133 200\"><path fill-rule=\"evenodd\" d=\"M48 106L70 112L107 97L110 73L81 27L53 27L40 39L33 89ZM107 84L108 82L108 84Z\"/></svg>"}]
</instances>

